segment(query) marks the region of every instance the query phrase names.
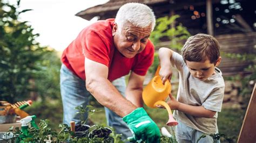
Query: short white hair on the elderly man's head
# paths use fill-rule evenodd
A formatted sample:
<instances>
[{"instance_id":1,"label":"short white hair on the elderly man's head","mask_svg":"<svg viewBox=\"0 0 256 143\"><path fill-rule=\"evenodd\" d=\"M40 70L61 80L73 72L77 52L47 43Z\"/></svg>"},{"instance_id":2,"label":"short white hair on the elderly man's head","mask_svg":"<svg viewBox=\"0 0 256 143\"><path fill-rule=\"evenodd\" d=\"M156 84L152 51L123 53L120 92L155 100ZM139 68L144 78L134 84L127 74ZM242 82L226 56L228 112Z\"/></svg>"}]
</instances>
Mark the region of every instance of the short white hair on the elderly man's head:
<instances>
[{"instance_id":1,"label":"short white hair on the elderly man's head","mask_svg":"<svg viewBox=\"0 0 256 143\"><path fill-rule=\"evenodd\" d=\"M156 25L156 17L152 9L145 4L126 3L118 10L115 22L119 25L119 28L122 27L125 22L130 22L132 25L140 28L152 25L153 31Z\"/></svg>"}]
</instances>

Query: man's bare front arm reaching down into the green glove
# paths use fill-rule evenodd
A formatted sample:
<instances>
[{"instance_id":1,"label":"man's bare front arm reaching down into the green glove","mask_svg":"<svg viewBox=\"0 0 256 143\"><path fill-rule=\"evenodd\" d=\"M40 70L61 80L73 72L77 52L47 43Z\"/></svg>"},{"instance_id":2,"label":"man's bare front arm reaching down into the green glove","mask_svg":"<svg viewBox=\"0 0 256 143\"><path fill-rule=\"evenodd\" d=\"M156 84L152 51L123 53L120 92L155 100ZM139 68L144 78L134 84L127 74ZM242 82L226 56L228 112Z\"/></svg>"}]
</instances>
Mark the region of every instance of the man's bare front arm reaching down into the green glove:
<instances>
[{"instance_id":1,"label":"man's bare front arm reaching down into the green glove","mask_svg":"<svg viewBox=\"0 0 256 143\"><path fill-rule=\"evenodd\" d=\"M124 117L137 107L125 99L107 80L108 73L109 68L102 63L85 58L86 89L100 104Z\"/></svg>"}]
</instances>

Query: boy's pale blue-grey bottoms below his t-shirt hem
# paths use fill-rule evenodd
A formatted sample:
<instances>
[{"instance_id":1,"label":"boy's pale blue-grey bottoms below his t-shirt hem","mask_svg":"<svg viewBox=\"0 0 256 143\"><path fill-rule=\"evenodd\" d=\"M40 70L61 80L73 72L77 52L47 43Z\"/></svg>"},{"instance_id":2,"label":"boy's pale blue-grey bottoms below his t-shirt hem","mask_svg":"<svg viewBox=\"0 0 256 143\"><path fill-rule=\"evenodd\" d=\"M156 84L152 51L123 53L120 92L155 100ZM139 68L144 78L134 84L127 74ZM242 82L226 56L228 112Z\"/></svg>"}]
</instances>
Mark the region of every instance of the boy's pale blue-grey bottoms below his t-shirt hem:
<instances>
[{"instance_id":1,"label":"boy's pale blue-grey bottoms below his t-shirt hem","mask_svg":"<svg viewBox=\"0 0 256 143\"><path fill-rule=\"evenodd\" d=\"M177 120L178 121L178 120ZM178 125L176 126L175 134L176 139L179 143L183 142L197 142L197 140L201 137L203 132L200 132L194 128L188 127L186 124L182 123L181 121L178 121ZM210 135L206 135L205 138L201 138L199 142L213 142L212 137ZM220 142L219 140L217 141Z\"/></svg>"}]
</instances>

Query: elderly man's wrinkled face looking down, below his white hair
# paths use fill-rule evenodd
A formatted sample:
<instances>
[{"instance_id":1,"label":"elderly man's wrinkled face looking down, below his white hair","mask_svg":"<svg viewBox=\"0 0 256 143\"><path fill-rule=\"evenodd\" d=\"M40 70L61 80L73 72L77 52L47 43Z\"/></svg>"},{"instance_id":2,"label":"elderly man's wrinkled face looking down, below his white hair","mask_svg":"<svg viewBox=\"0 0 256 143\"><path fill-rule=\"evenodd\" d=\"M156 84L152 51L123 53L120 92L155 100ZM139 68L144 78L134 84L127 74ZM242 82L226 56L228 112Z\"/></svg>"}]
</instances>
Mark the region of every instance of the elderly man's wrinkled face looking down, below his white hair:
<instances>
[{"instance_id":1,"label":"elderly man's wrinkled face looking down, below his white hair","mask_svg":"<svg viewBox=\"0 0 256 143\"><path fill-rule=\"evenodd\" d=\"M112 34L114 46L126 58L133 58L142 52L150 37L152 26L140 28L126 22L122 27L114 23Z\"/></svg>"}]
</instances>

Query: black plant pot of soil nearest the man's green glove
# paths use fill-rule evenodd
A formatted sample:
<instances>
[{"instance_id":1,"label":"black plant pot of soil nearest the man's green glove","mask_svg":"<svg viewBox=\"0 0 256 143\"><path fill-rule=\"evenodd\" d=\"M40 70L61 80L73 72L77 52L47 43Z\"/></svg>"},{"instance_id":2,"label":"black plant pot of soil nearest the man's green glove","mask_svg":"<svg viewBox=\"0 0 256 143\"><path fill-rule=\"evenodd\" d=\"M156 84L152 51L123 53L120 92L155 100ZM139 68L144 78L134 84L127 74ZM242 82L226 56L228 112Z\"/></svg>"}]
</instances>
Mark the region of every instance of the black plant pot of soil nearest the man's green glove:
<instances>
[{"instance_id":1,"label":"black plant pot of soil nearest the man's green glove","mask_svg":"<svg viewBox=\"0 0 256 143\"><path fill-rule=\"evenodd\" d=\"M95 126L95 125L94 125ZM92 127L94 127L92 126ZM99 127L90 131L88 137L89 138L104 138L104 142L114 142L112 137L109 137L110 133L112 133L111 128L108 127Z\"/></svg>"}]
</instances>

